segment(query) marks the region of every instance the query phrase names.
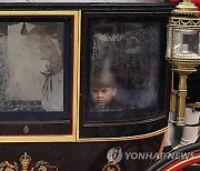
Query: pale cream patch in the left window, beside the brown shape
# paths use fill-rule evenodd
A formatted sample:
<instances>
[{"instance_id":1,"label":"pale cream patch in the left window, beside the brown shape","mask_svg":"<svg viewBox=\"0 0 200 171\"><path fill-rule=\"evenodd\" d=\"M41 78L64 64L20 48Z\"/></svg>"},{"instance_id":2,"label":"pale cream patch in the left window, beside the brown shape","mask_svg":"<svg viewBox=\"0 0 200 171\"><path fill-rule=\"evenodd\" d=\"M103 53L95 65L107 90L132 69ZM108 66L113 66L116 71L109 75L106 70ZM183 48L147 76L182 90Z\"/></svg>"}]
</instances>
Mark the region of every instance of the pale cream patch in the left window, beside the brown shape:
<instances>
[{"instance_id":1,"label":"pale cream patch in the left window, beside the brown shape","mask_svg":"<svg viewBox=\"0 0 200 171\"><path fill-rule=\"evenodd\" d=\"M10 100L41 100L42 77L38 71L43 62L39 58L39 53L31 53L26 46L26 37L21 36L22 22L8 26L8 66L9 66L9 84L7 94ZM31 29L32 24L27 24ZM31 56L30 56L31 53ZM33 82L30 86L27 82Z\"/></svg>"}]
</instances>

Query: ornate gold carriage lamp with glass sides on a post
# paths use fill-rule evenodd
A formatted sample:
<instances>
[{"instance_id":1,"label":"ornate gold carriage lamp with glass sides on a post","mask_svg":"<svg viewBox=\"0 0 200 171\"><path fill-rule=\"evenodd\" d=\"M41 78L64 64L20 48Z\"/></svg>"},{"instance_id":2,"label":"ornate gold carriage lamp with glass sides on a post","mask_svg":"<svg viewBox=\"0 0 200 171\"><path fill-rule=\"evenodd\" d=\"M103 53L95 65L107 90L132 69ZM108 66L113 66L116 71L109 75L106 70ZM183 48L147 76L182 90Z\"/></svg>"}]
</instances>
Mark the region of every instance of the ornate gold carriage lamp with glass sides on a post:
<instances>
[{"instance_id":1,"label":"ornate gold carriage lamp with glass sides on a post","mask_svg":"<svg viewBox=\"0 0 200 171\"><path fill-rule=\"evenodd\" d=\"M176 124L184 125L188 74L200 64L200 12L190 0L183 0L171 12L168 28L167 61L179 74L178 117Z\"/></svg>"}]
</instances>

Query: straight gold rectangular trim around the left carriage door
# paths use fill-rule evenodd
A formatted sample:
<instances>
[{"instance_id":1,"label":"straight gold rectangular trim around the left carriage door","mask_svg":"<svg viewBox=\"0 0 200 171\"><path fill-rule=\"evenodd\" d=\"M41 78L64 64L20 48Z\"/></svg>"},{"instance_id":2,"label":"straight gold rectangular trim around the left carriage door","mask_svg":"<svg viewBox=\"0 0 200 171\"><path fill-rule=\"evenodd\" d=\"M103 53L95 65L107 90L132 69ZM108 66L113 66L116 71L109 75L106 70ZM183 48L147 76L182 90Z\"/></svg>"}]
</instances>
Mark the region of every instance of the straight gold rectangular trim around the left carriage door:
<instances>
[{"instance_id":1,"label":"straight gold rectangular trim around the left carriage door","mask_svg":"<svg viewBox=\"0 0 200 171\"><path fill-rule=\"evenodd\" d=\"M49 134L49 135L0 135L0 143L8 142L76 142L77 140L77 122L79 112L79 77L80 73L80 10L76 11L0 11L0 17L13 16L72 16L73 19L73 92L72 97L72 134Z\"/></svg>"}]
</instances>

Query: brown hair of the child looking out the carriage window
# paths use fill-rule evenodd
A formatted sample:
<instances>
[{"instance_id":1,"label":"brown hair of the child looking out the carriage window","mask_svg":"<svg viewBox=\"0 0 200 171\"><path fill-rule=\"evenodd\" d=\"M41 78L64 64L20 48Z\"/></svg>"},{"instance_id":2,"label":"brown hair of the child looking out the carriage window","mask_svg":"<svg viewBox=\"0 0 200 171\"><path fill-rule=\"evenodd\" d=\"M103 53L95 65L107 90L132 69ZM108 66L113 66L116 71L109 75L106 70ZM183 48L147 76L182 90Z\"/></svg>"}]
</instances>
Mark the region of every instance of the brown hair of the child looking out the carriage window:
<instances>
[{"instance_id":1,"label":"brown hair of the child looking out the carriage window","mask_svg":"<svg viewBox=\"0 0 200 171\"><path fill-rule=\"evenodd\" d=\"M90 77L90 87L96 88L116 88L116 79L110 71L93 72Z\"/></svg>"}]
</instances>

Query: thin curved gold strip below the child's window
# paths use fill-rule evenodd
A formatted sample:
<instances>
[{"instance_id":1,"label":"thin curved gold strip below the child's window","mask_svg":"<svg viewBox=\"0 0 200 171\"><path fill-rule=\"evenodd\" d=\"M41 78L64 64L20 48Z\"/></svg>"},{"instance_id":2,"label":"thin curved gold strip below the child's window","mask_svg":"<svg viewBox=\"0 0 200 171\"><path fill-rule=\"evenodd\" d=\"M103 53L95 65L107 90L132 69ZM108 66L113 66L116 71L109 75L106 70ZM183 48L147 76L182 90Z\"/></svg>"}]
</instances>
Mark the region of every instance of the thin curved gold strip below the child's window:
<instances>
[{"instance_id":1,"label":"thin curved gold strip below the child's window","mask_svg":"<svg viewBox=\"0 0 200 171\"><path fill-rule=\"evenodd\" d=\"M120 138L81 138L78 140L78 142L103 142L103 141L128 141L128 140L139 140L139 139L147 139L154 135L159 135L167 132L168 128L163 128L161 130L147 133L147 134L140 134L140 135L132 135L132 137L120 137Z\"/></svg>"}]
</instances>

